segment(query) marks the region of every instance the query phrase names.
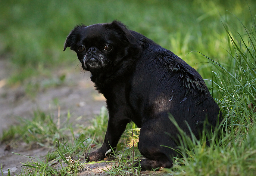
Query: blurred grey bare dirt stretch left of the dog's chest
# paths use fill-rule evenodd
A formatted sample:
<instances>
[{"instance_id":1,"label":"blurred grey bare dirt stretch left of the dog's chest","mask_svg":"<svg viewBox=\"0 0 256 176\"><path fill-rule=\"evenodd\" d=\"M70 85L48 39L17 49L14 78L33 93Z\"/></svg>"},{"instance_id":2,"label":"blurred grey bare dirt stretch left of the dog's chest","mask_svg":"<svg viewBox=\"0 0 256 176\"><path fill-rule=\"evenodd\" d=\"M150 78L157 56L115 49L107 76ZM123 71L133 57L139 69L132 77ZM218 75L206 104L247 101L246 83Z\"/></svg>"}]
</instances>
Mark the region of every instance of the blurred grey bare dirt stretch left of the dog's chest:
<instances>
[{"instance_id":1,"label":"blurred grey bare dirt stretch left of the dog's chest","mask_svg":"<svg viewBox=\"0 0 256 176\"><path fill-rule=\"evenodd\" d=\"M7 64L1 60L0 65ZM0 68L1 72L3 69L5 68ZM65 83L43 89L37 92L35 97L26 96L25 88L22 85L6 87L7 75L0 74L0 82L2 81L2 87L0 87L0 120L2 122L0 136L3 129L17 123L17 116L29 118L33 116L33 111L38 109L57 115L56 101L61 107L61 116L65 116L69 110L73 117L82 116L82 121L85 124L99 113L102 106L105 106L104 97L94 90L93 83L89 79L90 73L80 73L79 70L70 72L64 69L59 72L66 75Z\"/></svg>"}]
</instances>

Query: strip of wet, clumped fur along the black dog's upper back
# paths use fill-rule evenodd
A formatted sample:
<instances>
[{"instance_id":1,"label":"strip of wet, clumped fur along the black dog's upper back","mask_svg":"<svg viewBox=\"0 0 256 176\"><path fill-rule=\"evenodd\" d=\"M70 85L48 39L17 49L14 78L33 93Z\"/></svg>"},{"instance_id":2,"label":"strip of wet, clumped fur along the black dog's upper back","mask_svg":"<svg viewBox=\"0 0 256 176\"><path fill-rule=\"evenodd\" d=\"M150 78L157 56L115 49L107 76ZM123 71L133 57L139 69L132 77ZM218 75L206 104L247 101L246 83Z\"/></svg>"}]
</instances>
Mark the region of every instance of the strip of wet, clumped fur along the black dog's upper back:
<instances>
[{"instance_id":1,"label":"strip of wet, clumped fur along the black dog's upper back","mask_svg":"<svg viewBox=\"0 0 256 176\"><path fill-rule=\"evenodd\" d=\"M153 44L145 49L144 57L148 58L151 67L160 74L167 74L177 78L187 89L187 93L208 94L208 88L200 74L173 52ZM159 71L161 70L161 71Z\"/></svg>"}]
</instances>

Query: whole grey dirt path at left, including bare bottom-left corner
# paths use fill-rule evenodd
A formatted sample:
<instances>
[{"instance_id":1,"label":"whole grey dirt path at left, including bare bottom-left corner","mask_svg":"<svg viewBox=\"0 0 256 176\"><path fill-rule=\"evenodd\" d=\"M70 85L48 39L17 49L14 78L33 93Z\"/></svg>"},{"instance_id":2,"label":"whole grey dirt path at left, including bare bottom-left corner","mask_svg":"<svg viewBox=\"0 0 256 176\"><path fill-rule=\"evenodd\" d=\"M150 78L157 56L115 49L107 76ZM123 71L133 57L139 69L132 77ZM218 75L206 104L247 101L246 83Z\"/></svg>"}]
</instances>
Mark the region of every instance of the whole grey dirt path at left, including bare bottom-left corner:
<instances>
[{"instance_id":1,"label":"whole grey dirt path at left, including bare bottom-left corner","mask_svg":"<svg viewBox=\"0 0 256 176\"><path fill-rule=\"evenodd\" d=\"M61 108L61 116L67 117L69 110L74 118L82 116L80 123L84 125L88 124L95 114L99 114L102 106L105 106L104 97L94 90L93 83L89 79L90 73L80 73L79 68L73 71L58 70L57 76L58 74L66 75L65 82L61 86L40 90L35 97L30 97L26 95L25 88L21 85L12 88L6 86L9 67L6 60L0 60L0 136L2 136L3 129L18 123L18 116L29 119L33 116L34 110L39 109L57 116L56 101ZM8 173L8 168L11 169L11 175L14 175L21 170L21 162L30 161L29 158L11 152L40 158L45 156L49 150L46 148L28 149L25 143L14 144L10 151L5 148L6 144L0 144L0 163L5 175Z\"/></svg>"}]
</instances>

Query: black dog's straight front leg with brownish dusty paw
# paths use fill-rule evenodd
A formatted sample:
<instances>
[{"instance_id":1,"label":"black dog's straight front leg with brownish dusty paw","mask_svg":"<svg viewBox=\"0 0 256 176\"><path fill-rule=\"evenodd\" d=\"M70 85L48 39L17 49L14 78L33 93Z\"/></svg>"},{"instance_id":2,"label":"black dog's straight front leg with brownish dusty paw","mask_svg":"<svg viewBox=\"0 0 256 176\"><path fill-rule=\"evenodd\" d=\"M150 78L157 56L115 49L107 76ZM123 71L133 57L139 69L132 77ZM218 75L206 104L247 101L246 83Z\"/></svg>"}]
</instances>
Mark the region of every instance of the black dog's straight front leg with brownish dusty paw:
<instances>
[{"instance_id":1,"label":"black dog's straight front leg with brownish dusty paw","mask_svg":"<svg viewBox=\"0 0 256 176\"><path fill-rule=\"evenodd\" d=\"M120 119L120 117L111 116L110 114L104 142L98 150L89 153L88 157L86 157L87 161L99 161L104 159L105 153L111 149L111 147L115 148L117 146L118 140L129 122L129 119Z\"/></svg>"}]
</instances>

